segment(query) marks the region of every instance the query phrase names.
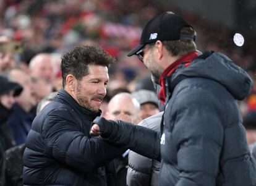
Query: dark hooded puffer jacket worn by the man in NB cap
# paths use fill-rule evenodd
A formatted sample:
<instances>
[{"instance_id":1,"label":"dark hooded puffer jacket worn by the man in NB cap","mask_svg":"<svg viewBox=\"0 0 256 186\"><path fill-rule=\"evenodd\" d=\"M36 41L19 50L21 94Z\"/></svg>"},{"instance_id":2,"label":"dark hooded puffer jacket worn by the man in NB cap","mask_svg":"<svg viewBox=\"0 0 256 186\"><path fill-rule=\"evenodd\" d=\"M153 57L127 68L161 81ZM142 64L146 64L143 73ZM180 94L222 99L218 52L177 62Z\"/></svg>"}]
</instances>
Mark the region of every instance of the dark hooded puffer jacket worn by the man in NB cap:
<instances>
[{"instance_id":1,"label":"dark hooded puffer jacket worn by the man in NB cap","mask_svg":"<svg viewBox=\"0 0 256 186\"><path fill-rule=\"evenodd\" d=\"M236 100L249 94L249 75L223 54L204 53L188 67L181 64L166 84L169 99L161 135L97 117L102 136L159 159L161 136L161 186L256 185Z\"/></svg>"}]
</instances>

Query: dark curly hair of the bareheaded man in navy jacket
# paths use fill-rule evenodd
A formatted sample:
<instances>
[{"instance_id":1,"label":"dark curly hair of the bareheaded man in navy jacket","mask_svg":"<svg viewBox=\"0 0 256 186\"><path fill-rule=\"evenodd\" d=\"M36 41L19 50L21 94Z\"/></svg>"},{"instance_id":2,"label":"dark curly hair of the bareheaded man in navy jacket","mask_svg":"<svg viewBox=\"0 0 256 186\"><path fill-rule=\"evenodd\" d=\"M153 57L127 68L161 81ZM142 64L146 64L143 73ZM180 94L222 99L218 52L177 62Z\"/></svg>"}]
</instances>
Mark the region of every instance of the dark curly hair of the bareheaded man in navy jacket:
<instances>
[{"instance_id":1,"label":"dark curly hair of the bareheaded man in navy jacket","mask_svg":"<svg viewBox=\"0 0 256 186\"><path fill-rule=\"evenodd\" d=\"M88 75L88 64L109 67L116 59L98 45L75 46L61 57L62 86L66 85L66 77L74 75L77 80Z\"/></svg>"}]
</instances>

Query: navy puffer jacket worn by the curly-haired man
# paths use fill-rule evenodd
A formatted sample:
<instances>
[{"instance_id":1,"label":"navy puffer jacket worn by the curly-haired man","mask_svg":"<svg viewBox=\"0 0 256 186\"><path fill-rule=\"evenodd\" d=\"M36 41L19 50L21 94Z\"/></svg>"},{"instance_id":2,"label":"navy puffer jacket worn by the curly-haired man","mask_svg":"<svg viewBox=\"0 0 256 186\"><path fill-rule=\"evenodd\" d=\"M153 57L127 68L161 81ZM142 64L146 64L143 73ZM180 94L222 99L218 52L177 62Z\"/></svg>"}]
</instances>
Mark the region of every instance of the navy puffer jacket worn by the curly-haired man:
<instances>
[{"instance_id":1,"label":"navy puffer jacket worn by the curly-haired man","mask_svg":"<svg viewBox=\"0 0 256 186\"><path fill-rule=\"evenodd\" d=\"M99 115L61 90L33 120L23 154L24 185L107 185L104 166L124 150L90 138Z\"/></svg>"}]
</instances>

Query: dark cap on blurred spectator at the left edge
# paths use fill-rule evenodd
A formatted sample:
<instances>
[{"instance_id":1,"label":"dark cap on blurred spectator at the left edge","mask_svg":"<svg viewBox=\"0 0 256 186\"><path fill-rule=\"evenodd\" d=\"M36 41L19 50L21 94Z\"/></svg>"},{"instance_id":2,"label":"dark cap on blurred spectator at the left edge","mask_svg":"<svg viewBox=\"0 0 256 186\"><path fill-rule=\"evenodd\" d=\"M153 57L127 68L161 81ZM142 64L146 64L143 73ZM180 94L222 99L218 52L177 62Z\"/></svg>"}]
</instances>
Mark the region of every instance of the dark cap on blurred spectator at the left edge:
<instances>
[{"instance_id":1,"label":"dark cap on blurred spectator at the left edge","mask_svg":"<svg viewBox=\"0 0 256 186\"><path fill-rule=\"evenodd\" d=\"M12 90L14 90L14 96L19 96L23 90L23 87L19 83L11 82L4 75L0 75L0 85L0 96L6 95Z\"/></svg>"}]
</instances>

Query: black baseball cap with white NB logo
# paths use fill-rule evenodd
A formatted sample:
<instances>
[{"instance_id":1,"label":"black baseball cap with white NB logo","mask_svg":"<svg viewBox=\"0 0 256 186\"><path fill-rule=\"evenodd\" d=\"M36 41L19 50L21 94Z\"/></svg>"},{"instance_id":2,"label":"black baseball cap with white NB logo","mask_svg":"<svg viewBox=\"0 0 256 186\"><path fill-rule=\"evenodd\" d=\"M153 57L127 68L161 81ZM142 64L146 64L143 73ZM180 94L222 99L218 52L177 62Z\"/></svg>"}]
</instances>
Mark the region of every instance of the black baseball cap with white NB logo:
<instances>
[{"instance_id":1,"label":"black baseball cap with white NB logo","mask_svg":"<svg viewBox=\"0 0 256 186\"><path fill-rule=\"evenodd\" d=\"M195 36L181 34L182 27L192 27L181 16L173 14L173 12L164 12L151 19L143 28L140 37L140 44L134 48L127 56L136 54L146 44L153 43L157 40L193 40ZM193 27L192 27L193 28Z\"/></svg>"}]
</instances>

